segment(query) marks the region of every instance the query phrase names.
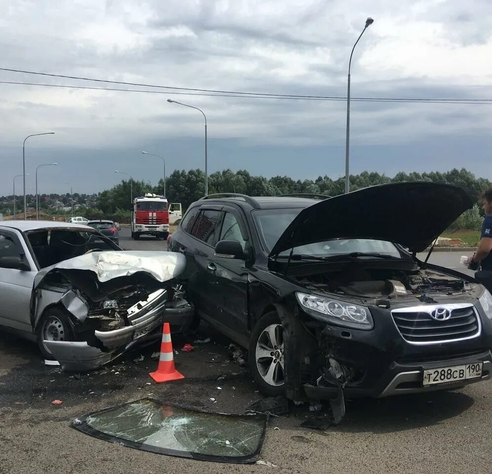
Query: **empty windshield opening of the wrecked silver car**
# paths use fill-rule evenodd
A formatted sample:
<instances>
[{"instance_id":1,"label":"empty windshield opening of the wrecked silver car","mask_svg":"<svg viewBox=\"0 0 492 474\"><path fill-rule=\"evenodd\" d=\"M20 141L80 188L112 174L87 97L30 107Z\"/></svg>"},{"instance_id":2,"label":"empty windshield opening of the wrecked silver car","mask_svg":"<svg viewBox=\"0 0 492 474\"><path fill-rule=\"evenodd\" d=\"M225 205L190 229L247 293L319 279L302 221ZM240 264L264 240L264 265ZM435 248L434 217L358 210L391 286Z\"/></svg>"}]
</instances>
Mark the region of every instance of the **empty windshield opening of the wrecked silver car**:
<instances>
[{"instance_id":1,"label":"empty windshield opening of the wrecked silver car","mask_svg":"<svg viewBox=\"0 0 492 474\"><path fill-rule=\"evenodd\" d=\"M40 268L78 257L89 250L120 250L97 231L43 229L28 233L28 239Z\"/></svg>"}]
</instances>

